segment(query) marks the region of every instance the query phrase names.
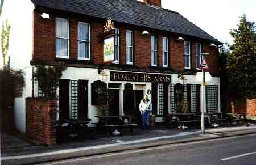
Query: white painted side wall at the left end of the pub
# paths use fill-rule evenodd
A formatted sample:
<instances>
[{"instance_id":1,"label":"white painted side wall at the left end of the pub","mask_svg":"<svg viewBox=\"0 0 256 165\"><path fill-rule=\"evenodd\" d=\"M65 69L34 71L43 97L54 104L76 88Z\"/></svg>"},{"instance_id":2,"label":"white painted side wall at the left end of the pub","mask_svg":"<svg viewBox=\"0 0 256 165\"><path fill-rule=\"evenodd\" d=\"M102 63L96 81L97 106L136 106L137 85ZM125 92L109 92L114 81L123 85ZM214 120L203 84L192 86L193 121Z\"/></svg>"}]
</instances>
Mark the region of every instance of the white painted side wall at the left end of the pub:
<instances>
[{"instance_id":1,"label":"white painted side wall at the left end of the pub","mask_svg":"<svg viewBox=\"0 0 256 165\"><path fill-rule=\"evenodd\" d=\"M33 10L34 5L30 0L8 0L3 3L0 18L1 23L8 20L11 26L8 52L10 66L15 70L21 69L24 72L23 95L14 100L14 122L16 128L21 132L26 132L25 98L31 96L32 90L30 61L33 48ZM2 28L2 26L0 27ZM1 66L2 56L0 58Z\"/></svg>"}]
</instances>

